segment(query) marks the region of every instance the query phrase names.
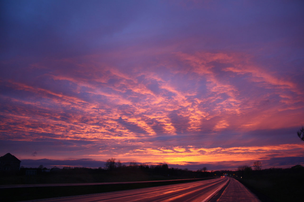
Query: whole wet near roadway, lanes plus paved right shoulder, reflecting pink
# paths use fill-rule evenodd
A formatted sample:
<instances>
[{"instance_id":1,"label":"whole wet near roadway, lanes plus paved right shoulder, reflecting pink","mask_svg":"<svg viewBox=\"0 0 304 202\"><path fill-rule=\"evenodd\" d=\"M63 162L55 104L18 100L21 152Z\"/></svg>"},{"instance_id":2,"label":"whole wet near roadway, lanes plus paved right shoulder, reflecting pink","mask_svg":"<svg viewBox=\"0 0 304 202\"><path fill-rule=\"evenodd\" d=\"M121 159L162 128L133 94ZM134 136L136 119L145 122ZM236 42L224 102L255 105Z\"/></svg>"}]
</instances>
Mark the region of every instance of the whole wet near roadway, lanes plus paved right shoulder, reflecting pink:
<instances>
[{"instance_id":1,"label":"whole wet near roadway, lanes plus paved right shoulder, reflecting pink","mask_svg":"<svg viewBox=\"0 0 304 202\"><path fill-rule=\"evenodd\" d=\"M57 197L48 202L261 202L233 178L212 178L195 182L125 191Z\"/></svg>"}]
</instances>

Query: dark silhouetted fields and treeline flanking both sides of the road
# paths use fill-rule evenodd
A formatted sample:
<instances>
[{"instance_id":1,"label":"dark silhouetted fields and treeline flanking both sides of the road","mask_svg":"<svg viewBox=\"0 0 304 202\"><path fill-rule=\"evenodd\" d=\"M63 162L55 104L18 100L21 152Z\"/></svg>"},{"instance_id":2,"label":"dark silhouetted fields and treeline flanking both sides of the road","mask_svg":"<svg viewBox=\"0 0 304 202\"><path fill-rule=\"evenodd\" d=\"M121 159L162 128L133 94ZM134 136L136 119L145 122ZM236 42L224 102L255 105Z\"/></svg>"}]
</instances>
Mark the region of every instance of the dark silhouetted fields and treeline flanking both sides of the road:
<instances>
[{"instance_id":1,"label":"dark silhouetted fields and treeline flanking both sides of the road","mask_svg":"<svg viewBox=\"0 0 304 202\"><path fill-rule=\"evenodd\" d=\"M128 189L146 188L161 185L170 185L177 182L160 182L159 180L193 179L220 176L227 173L228 176L235 176L262 202L285 202L302 201L304 190L304 167L293 166L288 169L271 168L253 171L215 171L215 172L193 172L181 169L168 169L163 165L155 168L134 169L129 166L113 171L103 169L62 169L60 172L39 173L36 176L26 176L20 172L17 175L0 175L0 196L1 201L18 201L38 198L62 197L79 194L104 193ZM240 178L242 176L242 178ZM100 183L110 182L132 182L132 181L156 181L151 183L119 183L102 185ZM189 181L184 181L189 182ZM52 184L44 188L37 184ZM61 183L78 183L78 186L67 185L54 186ZM90 183L82 184L79 183ZM93 184L92 184L93 183ZM98 184L94 184L98 183ZM4 189L6 186L16 184L27 184L33 187L15 187ZM29 185L30 184L30 185ZM61 184L62 185L62 184ZM89 185L89 186L88 186ZM24 185L22 185L24 186Z\"/></svg>"}]
</instances>

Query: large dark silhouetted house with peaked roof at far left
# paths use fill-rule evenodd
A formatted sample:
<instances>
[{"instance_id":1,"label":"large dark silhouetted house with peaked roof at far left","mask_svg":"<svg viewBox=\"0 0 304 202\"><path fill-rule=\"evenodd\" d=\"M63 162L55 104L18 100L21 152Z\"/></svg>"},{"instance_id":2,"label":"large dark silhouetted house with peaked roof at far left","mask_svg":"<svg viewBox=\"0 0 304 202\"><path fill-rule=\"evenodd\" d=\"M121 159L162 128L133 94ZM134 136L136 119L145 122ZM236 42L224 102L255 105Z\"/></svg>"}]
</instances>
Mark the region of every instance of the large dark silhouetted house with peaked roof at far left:
<instances>
[{"instance_id":1,"label":"large dark silhouetted house with peaked roof at far left","mask_svg":"<svg viewBox=\"0 0 304 202\"><path fill-rule=\"evenodd\" d=\"M0 171L19 171L21 161L10 153L0 157Z\"/></svg>"}]
</instances>

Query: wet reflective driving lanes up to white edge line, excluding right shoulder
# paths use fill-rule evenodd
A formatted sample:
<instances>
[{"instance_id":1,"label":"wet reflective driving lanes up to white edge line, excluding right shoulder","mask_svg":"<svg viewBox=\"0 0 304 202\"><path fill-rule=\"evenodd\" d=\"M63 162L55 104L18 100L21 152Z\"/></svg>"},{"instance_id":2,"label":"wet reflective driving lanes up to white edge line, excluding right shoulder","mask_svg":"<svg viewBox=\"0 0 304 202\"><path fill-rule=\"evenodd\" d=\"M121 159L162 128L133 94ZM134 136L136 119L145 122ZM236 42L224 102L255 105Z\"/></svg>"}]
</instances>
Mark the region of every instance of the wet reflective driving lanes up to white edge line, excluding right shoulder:
<instances>
[{"instance_id":1,"label":"wet reflective driving lanes up to white edge line, excluding right shoulder","mask_svg":"<svg viewBox=\"0 0 304 202\"><path fill-rule=\"evenodd\" d=\"M229 182L228 178L216 178L190 183L167 186L157 186L136 190L116 191L109 193L91 194L83 196L44 199L48 202L206 202L212 198L223 186Z\"/></svg>"}]
</instances>

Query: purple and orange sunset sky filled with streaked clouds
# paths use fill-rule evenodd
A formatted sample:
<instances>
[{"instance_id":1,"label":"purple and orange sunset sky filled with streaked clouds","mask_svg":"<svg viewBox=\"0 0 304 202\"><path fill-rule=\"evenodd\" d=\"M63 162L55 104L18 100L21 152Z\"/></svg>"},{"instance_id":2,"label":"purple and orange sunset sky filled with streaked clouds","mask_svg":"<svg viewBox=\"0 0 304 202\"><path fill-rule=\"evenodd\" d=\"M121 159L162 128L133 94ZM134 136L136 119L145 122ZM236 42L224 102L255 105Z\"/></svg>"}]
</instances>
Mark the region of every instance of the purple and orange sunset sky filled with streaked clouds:
<instances>
[{"instance_id":1,"label":"purple and orange sunset sky filled with streaked clouds","mask_svg":"<svg viewBox=\"0 0 304 202\"><path fill-rule=\"evenodd\" d=\"M0 4L1 156L304 165L303 1Z\"/></svg>"}]
</instances>

